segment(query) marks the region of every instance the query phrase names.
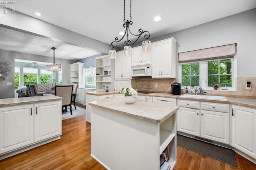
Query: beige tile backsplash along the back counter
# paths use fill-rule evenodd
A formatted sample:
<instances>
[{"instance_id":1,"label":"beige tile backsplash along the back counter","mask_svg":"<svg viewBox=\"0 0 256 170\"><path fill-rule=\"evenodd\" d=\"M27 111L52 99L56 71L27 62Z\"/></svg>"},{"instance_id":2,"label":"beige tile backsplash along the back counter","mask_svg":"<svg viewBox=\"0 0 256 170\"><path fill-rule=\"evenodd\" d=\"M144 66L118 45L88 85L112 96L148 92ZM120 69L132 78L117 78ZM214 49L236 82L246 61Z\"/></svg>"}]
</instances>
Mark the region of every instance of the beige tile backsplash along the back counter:
<instances>
[{"instance_id":1,"label":"beige tile backsplash along the back counter","mask_svg":"<svg viewBox=\"0 0 256 170\"><path fill-rule=\"evenodd\" d=\"M139 77L132 79L134 81L135 88L138 91L148 92L159 92L159 93L170 93L171 84L179 82L177 78L150 78L150 77ZM246 82L251 82L251 89L246 90ZM156 87L157 84L157 87ZM214 96L226 96L226 97L239 97L239 98L256 98L256 77L238 77L236 79L237 90L205 90L207 94ZM189 91L190 92L190 91ZM194 93L194 91L193 91ZM181 90L181 94L185 94L185 90Z\"/></svg>"}]
</instances>

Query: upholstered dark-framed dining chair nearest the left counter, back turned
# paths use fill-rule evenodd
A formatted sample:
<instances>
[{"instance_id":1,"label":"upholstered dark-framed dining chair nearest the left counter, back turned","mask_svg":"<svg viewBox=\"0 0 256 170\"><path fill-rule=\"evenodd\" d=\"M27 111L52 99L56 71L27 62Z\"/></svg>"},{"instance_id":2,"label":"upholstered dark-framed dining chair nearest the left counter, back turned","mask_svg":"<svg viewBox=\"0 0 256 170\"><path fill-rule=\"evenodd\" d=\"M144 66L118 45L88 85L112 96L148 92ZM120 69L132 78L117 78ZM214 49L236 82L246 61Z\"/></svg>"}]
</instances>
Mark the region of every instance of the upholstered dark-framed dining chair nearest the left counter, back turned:
<instances>
[{"instance_id":1,"label":"upholstered dark-framed dining chair nearest the left counter, back turned","mask_svg":"<svg viewBox=\"0 0 256 170\"><path fill-rule=\"evenodd\" d=\"M67 106L70 108L70 113L72 114L71 109L71 101L72 101L72 93L73 93L73 85L68 86L54 86L55 96L62 97L62 111L65 107L65 111L67 111Z\"/></svg>"}]
</instances>

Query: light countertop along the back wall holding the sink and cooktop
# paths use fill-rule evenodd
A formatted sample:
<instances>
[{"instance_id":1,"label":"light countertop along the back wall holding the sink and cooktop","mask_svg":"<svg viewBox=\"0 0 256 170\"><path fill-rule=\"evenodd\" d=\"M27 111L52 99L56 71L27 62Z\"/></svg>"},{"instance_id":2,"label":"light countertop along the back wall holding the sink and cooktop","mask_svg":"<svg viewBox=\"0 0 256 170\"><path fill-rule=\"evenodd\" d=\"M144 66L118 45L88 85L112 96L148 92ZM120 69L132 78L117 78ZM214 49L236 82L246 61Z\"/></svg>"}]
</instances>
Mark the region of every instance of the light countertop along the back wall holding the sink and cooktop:
<instances>
[{"instance_id":1,"label":"light countertop along the back wall holding the sink and cooktop","mask_svg":"<svg viewBox=\"0 0 256 170\"><path fill-rule=\"evenodd\" d=\"M110 90L109 92L105 91L95 91L95 92L86 92L86 94L102 96L107 94L118 94L118 90ZM227 100L215 100L215 99L202 99L202 98L182 98L180 95L168 94L168 93L150 93L150 94L142 94L138 93L140 96L157 96L157 97L165 97L165 98L176 98L182 100L196 100L203 102L217 102L224 104L235 104L244 107L250 107L256 109L256 99L253 98L231 98L227 97Z\"/></svg>"}]
</instances>

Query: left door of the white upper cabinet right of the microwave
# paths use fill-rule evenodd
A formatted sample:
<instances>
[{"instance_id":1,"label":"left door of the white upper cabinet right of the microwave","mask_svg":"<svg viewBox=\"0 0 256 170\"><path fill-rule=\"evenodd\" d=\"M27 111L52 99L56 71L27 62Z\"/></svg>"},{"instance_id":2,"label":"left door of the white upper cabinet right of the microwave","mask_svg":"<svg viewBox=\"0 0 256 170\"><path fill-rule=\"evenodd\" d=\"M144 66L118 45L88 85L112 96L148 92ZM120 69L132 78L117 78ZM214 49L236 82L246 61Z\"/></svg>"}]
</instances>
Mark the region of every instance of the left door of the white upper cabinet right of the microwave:
<instances>
[{"instance_id":1,"label":"left door of the white upper cabinet right of the microwave","mask_svg":"<svg viewBox=\"0 0 256 170\"><path fill-rule=\"evenodd\" d=\"M161 43L152 43L151 47L152 78L159 78L161 75Z\"/></svg>"}]
</instances>

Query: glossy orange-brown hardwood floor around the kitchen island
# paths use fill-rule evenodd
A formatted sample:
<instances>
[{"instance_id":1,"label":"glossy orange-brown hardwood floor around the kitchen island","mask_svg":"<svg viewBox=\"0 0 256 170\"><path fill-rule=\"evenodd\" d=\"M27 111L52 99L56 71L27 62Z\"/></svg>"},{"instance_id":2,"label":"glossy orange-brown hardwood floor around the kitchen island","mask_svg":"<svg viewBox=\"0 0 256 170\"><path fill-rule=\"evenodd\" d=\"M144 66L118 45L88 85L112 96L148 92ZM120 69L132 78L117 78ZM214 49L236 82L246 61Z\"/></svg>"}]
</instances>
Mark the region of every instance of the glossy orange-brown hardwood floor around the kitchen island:
<instances>
[{"instance_id":1,"label":"glossy orange-brown hardwood floor around the kitchen island","mask_svg":"<svg viewBox=\"0 0 256 170\"><path fill-rule=\"evenodd\" d=\"M61 139L0 160L0 170L105 170L90 156L90 123L86 115L62 121ZM177 147L175 170L256 170L236 154L238 167Z\"/></svg>"}]
</instances>

